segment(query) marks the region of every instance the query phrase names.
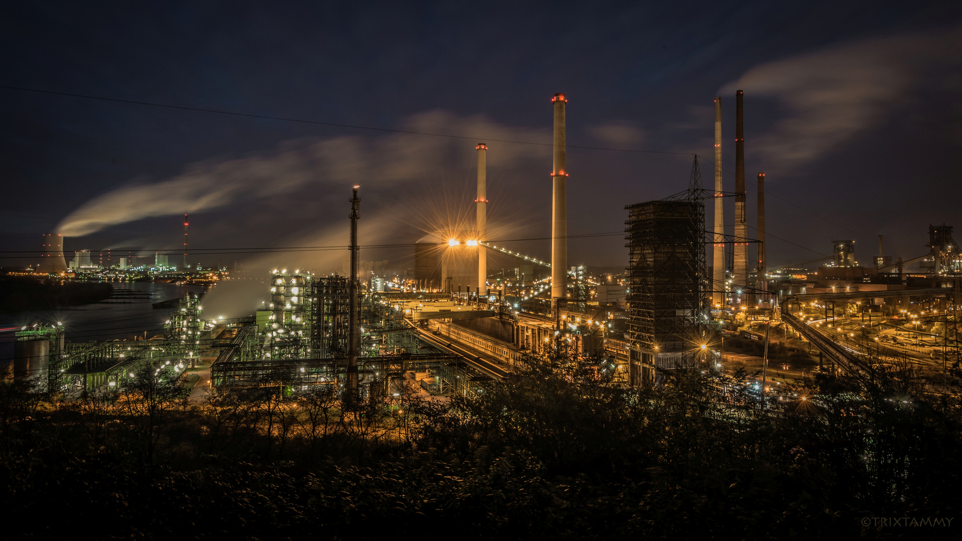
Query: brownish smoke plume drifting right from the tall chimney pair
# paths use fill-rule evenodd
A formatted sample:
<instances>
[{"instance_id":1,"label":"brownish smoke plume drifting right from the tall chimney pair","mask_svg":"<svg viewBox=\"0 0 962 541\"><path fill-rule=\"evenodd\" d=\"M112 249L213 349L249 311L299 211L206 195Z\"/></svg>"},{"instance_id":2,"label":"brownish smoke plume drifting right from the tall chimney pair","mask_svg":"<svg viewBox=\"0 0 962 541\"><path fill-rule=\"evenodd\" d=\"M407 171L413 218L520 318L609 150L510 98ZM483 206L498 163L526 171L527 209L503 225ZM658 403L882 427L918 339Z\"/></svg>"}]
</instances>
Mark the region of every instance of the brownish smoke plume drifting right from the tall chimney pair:
<instances>
[{"instance_id":1,"label":"brownish smoke plume drifting right from the tall chimney pair","mask_svg":"<svg viewBox=\"0 0 962 541\"><path fill-rule=\"evenodd\" d=\"M721 95L775 98L788 116L751 148L787 166L823 156L883 121L915 89L962 63L962 32L871 39L761 64Z\"/></svg>"}]
</instances>

